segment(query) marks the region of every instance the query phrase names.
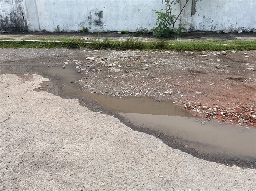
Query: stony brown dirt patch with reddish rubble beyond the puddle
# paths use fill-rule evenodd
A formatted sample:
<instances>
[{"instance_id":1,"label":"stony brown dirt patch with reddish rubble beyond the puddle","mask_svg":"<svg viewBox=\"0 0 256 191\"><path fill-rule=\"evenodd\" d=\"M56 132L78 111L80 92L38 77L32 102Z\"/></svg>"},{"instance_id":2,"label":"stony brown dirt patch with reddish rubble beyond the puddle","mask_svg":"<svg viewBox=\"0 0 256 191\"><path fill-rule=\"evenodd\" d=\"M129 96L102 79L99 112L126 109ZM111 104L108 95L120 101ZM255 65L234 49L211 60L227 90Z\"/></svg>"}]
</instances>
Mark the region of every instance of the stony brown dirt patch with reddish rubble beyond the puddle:
<instances>
[{"instance_id":1,"label":"stony brown dirt patch with reddish rubble beyond the puddle","mask_svg":"<svg viewBox=\"0 0 256 191\"><path fill-rule=\"evenodd\" d=\"M171 100L208 120L256 126L256 51L84 52L90 58L75 61L84 91Z\"/></svg>"}]
</instances>

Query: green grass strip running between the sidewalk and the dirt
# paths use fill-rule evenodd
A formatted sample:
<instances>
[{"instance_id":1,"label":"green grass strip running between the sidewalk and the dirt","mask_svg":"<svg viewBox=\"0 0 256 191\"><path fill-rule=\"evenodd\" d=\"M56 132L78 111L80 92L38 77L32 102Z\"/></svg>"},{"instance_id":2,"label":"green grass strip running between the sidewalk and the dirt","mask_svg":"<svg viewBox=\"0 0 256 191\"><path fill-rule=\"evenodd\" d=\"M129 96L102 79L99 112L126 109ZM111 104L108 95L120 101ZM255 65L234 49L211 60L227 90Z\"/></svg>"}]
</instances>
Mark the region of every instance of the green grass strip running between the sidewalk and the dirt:
<instances>
[{"instance_id":1,"label":"green grass strip running between the sidewalk and the dirt","mask_svg":"<svg viewBox=\"0 0 256 191\"><path fill-rule=\"evenodd\" d=\"M6 40L6 39L0 39ZM10 40L10 39L8 39ZM0 41L0 48L91 48L91 49L139 49L139 50L170 50L170 51L248 51L256 50L256 40L252 41L157 41L157 42L141 42L133 38L126 41L111 41L105 39L103 42L92 40L84 41L80 39L33 39L43 40L45 42L29 42L25 41ZM53 42L47 42L47 41Z\"/></svg>"}]
</instances>

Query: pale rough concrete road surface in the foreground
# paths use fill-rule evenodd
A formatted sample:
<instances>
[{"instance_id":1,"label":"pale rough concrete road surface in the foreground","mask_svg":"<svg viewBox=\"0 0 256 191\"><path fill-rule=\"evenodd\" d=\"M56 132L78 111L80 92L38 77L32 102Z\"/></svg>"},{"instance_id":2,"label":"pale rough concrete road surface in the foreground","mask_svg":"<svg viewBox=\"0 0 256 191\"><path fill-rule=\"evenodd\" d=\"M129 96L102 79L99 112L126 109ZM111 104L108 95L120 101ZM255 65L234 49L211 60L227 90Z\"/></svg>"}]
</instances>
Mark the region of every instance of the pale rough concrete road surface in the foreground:
<instances>
[{"instance_id":1,"label":"pale rough concrete road surface in the foreground","mask_svg":"<svg viewBox=\"0 0 256 191\"><path fill-rule=\"evenodd\" d=\"M0 190L255 190L256 170L195 158L78 100L0 75Z\"/></svg>"}]
</instances>

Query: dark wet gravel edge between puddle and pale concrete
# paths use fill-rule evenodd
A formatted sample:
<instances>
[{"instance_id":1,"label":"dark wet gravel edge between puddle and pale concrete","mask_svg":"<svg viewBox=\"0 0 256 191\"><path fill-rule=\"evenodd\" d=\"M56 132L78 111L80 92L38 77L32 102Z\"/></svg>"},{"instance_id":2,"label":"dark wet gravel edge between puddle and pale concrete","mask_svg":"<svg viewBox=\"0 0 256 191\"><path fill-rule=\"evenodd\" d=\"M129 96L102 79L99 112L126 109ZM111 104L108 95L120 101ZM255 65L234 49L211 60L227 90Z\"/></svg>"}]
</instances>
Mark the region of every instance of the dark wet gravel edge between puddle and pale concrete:
<instances>
[{"instance_id":1,"label":"dark wet gravel edge between puddle and pale concrete","mask_svg":"<svg viewBox=\"0 0 256 191\"><path fill-rule=\"evenodd\" d=\"M22 76L22 74L24 74L21 71L17 72L17 73L15 73L15 72L12 72L12 73L18 74L19 76ZM171 147L173 149L181 150L182 152L186 152L188 154L191 154L193 157L197 157L199 159L203 159L203 160L207 160L207 161L211 161L211 162L217 162L219 164L224 164L227 166L236 165L236 166L242 167L242 168L256 169L256 161L250 162L250 161L247 161L244 159L240 159L238 157L231 158L231 157L228 157L225 155L219 156L219 155L212 155L212 154L197 152L195 149L193 149L189 146L188 147L185 146L184 142L186 142L186 140L182 140L179 137L173 137L173 136L170 137L158 130L152 130L152 129L149 129L146 127L136 126L133 123L131 123L127 118L123 117L122 115L120 115L114 111L110 111L110 110L107 110L107 109L101 107L100 104L97 101L93 100L92 98L85 98L85 97L80 97L80 96L67 96L67 95L65 95L65 93L62 92L62 90L60 88L61 87L60 81L58 81L54 76L45 75L45 74L42 74L39 72L35 72L33 70L31 70L30 72L27 72L27 73L30 73L30 74L37 73L37 74L44 76L45 78L48 78L50 80L48 82L43 82L40 84L43 87L43 89L38 90L38 88L36 88L34 91L47 91L49 93L53 93L54 95L60 96L65 99L77 99L79 101L80 105L87 107L91 111L100 112L100 113L114 116L115 118L118 118L120 120L120 122L124 123L131 129L136 130L138 132L143 132L143 133L146 133L149 135L153 135L154 137L161 139L163 141L163 143L165 143L169 147ZM46 86L46 84L48 84L48 86ZM73 84L75 85L76 83L73 83ZM79 85L77 84L77 86L79 86Z\"/></svg>"}]
</instances>

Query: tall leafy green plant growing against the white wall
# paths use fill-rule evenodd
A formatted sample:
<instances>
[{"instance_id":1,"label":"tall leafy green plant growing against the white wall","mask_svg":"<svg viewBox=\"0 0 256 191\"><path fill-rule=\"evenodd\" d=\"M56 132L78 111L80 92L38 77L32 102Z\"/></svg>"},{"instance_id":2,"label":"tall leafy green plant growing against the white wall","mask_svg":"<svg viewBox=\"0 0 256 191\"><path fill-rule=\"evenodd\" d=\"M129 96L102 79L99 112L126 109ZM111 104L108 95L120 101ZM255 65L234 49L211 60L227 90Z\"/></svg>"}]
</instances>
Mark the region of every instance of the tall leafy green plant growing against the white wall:
<instances>
[{"instance_id":1,"label":"tall leafy green plant growing against the white wall","mask_svg":"<svg viewBox=\"0 0 256 191\"><path fill-rule=\"evenodd\" d=\"M171 7L172 5L180 3L180 1L181 0L162 0L162 3L166 5L166 8L155 12L157 15L157 22L156 27L153 28L153 33L156 38L168 38L174 35L180 36L182 31L186 31L185 24L179 24L177 29L174 28L176 21L179 19L182 11L190 0L186 0L185 5L176 17L176 15L172 14L173 9ZM197 1L198 0L193 0L194 3L196 3Z\"/></svg>"}]
</instances>

